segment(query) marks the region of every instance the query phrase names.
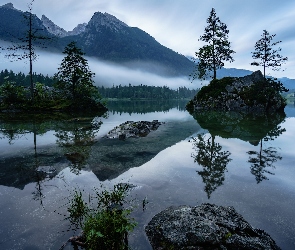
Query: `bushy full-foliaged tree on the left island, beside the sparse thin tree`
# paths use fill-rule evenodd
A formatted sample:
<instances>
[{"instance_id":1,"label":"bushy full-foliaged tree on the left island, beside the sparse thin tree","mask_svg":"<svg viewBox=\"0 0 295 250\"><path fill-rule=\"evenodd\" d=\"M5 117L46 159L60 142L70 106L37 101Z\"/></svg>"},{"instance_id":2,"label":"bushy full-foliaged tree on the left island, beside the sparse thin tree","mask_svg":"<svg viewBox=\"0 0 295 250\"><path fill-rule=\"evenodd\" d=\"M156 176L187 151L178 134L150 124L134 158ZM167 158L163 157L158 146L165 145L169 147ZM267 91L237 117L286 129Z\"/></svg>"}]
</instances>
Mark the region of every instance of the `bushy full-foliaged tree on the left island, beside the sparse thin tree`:
<instances>
[{"instance_id":1,"label":"bushy full-foliaged tree on the left island, beside the sparse thin tree","mask_svg":"<svg viewBox=\"0 0 295 250\"><path fill-rule=\"evenodd\" d=\"M93 85L92 78L95 74L90 71L82 50L76 46L75 42L71 42L65 47L63 53L66 56L55 74L57 79L55 87L63 98L78 101L77 105L100 99L98 90Z\"/></svg>"}]
</instances>

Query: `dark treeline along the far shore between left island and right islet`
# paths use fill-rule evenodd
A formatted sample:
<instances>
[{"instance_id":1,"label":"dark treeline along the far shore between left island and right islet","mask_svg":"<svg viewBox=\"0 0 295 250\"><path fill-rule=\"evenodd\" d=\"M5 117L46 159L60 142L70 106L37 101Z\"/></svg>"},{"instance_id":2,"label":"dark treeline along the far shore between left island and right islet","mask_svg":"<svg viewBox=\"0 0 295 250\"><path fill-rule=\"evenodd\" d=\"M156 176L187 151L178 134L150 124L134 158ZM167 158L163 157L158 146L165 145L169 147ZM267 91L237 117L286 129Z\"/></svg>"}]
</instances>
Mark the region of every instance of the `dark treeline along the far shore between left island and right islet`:
<instances>
[{"instance_id":1,"label":"dark treeline along the far shore between left island and right islet","mask_svg":"<svg viewBox=\"0 0 295 250\"><path fill-rule=\"evenodd\" d=\"M179 87L176 90L170 89L167 86L156 87L139 85L132 86L113 86L105 88L98 87L99 93L104 98L131 98L131 99L191 99L195 96L198 90Z\"/></svg>"}]
</instances>

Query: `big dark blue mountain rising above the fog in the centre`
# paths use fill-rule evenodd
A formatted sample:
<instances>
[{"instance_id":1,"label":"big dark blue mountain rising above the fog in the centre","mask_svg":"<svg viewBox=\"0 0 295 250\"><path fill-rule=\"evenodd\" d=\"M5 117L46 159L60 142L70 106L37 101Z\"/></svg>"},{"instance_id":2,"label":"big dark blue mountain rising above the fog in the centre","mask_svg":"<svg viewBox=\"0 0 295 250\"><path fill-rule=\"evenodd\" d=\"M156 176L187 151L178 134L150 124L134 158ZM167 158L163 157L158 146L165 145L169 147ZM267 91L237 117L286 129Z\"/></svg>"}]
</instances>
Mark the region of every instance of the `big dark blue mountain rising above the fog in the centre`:
<instances>
[{"instance_id":1,"label":"big dark blue mountain rising above the fog in the centre","mask_svg":"<svg viewBox=\"0 0 295 250\"><path fill-rule=\"evenodd\" d=\"M193 63L158 43L136 27L129 27L116 17L96 12L85 32L76 40L88 55L115 62L149 62L154 70L161 68L168 75L189 75ZM134 63L134 64L135 64Z\"/></svg>"}]
</instances>

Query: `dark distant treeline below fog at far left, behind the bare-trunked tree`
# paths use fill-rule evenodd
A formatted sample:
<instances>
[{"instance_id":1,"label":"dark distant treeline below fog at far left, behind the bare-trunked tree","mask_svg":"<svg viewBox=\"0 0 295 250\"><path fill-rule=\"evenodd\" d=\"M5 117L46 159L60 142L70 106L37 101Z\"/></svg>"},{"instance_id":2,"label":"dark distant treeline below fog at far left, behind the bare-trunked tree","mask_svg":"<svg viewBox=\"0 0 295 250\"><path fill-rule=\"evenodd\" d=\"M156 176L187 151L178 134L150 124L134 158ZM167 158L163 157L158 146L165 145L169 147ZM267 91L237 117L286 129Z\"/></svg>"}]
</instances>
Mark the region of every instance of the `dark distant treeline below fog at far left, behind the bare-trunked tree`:
<instances>
[{"instance_id":1,"label":"dark distant treeline below fog at far left, behind the bare-trunked tree","mask_svg":"<svg viewBox=\"0 0 295 250\"><path fill-rule=\"evenodd\" d=\"M24 73L14 73L12 70L8 71L7 69L1 70L0 72L0 85L2 85L5 81L14 82L15 85L18 86L30 86L30 76L25 75ZM45 84L46 86L52 86L54 83L54 79L52 76L44 76L42 74L33 73L33 81L40 82Z\"/></svg>"}]
</instances>

